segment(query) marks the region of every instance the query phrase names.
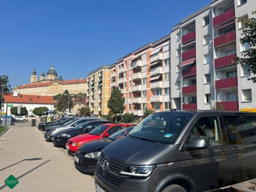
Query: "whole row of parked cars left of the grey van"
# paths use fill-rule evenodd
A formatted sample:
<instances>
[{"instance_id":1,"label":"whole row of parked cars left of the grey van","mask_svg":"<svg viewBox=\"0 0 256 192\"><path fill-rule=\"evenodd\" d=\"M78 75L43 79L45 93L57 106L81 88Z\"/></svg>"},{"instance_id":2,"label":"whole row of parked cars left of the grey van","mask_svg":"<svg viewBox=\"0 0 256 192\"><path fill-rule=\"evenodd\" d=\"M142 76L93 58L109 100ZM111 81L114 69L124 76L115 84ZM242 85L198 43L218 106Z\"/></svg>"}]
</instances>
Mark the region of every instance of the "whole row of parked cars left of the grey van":
<instances>
[{"instance_id":1,"label":"whole row of parked cars left of the grey van","mask_svg":"<svg viewBox=\"0 0 256 192\"><path fill-rule=\"evenodd\" d=\"M66 118L44 124L38 124L38 129L45 131L45 140L52 141L56 147L67 148L67 153L74 156L77 170L88 174L95 172L102 148L126 136L133 128L133 124L86 117Z\"/></svg>"}]
</instances>

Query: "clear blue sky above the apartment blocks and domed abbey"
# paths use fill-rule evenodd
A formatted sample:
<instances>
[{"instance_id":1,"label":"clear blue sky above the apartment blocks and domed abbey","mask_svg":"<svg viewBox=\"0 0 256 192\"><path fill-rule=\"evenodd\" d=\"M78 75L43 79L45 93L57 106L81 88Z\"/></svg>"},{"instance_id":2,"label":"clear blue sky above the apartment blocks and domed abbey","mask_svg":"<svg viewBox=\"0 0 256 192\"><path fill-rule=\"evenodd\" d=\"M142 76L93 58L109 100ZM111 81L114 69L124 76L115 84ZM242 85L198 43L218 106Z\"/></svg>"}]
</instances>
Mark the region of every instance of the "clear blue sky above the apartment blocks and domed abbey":
<instances>
[{"instance_id":1,"label":"clear blue sky above the apartment blocks and domed abbey","mask_svg":"<svg viewBox=\"0 0 256 192\"><path fill-rule=\"evenodd\" d=\"M0 0L0 75L14 88L51 65L64 80L155 42L212 0Z\"/></svg>"}]
</instances>

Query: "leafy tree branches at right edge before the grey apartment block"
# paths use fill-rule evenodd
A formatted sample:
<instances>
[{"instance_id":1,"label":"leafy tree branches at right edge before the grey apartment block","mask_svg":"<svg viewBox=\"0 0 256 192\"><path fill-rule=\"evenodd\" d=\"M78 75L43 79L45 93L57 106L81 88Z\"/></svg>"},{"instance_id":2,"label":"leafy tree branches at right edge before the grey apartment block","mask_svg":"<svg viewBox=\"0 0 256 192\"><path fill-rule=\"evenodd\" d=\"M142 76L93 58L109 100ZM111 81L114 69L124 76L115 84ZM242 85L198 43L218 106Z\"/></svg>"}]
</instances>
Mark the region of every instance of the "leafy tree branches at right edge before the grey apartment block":
<instances>
[{"instance_id":1,"label":"leafy tree branches at right edge before the grey apartment block","mask_svg":"<svg viewBox=\"0 0 256 192\"><path fill-rule=\"evenodd\" d=\"M253 12L252 14L255 14ZM256 74L256 20L255 18L239 18L238 22L242 22L244 24L244 28L242 29L243 38L240 38L242 44L249 44L250 49L243 51L241 53L241 58L236 57L235 63L243 65L248 65L248 71L252 72L254 75ZM256 83L256 77L248 77L248 81L252 81Z\"/></svg>"}]
</instances>

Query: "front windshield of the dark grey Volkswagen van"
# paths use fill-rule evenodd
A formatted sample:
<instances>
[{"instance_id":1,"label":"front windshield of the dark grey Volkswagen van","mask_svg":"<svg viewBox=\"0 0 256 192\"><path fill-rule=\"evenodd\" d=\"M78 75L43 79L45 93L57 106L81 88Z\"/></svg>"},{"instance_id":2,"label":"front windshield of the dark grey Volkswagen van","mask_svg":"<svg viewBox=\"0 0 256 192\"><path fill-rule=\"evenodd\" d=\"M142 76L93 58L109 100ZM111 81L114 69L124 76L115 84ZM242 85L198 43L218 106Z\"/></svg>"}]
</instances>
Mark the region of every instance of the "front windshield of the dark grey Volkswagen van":
<instances>
[{"instance_id":1,"label":"front windshield of the dark grey Volkswagen van","mask_svg":"<svg viewBox=\"0 0 256 192\"><path fill-rule=\"evenodd\" d=\"M173 144L191 116L188 113L153 113L136 125L129 135L156 143Z\"/></svg>"}]
</instances>

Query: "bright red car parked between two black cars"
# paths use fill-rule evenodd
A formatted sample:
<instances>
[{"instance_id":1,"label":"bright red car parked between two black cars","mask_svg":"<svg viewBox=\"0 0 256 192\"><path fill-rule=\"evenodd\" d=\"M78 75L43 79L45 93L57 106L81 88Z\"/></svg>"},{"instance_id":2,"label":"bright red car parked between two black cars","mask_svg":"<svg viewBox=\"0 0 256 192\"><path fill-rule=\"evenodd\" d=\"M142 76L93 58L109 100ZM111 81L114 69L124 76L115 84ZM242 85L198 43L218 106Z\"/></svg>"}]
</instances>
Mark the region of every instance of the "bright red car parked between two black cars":
<instances>
[{"instance_id":1,"label":"bright red car parked between two black cars","mask_svg":"<svg viewBox=\"0 0 256 192\"><path fill-rule=\"evenodd\" d=\"M90 131L89 133L81 134L79 136L75 136L74 138L70 138L66 143L68 154L74 155L77 149L81 147L81 145L83 145L84 143L99 140L101 138L107 138L116 131L132 125L133 124L102 124L99 125L99 127Z\"/></svg>"}]
</instances>

